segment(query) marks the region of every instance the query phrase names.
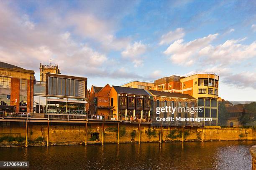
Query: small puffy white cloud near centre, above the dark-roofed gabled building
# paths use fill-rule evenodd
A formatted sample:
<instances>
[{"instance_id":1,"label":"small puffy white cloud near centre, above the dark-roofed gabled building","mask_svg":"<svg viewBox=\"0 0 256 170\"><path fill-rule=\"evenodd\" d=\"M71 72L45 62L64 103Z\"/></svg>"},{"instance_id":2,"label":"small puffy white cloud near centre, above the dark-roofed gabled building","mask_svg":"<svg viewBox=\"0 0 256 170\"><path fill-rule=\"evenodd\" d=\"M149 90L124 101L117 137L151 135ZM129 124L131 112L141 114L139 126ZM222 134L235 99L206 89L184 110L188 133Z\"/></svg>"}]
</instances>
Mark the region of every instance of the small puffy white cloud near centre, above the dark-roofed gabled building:
<instances>
[{"instance_id":1,"label":"small puffy white cloud near centre, above the dark-roofed gabled building","mask_svg":"<svg viewBox=\"0 0 256 170\"><path fill-rule=\"evenodd\" d=\"M143 60L141 55L146 52L148 45L142 44L141 41L134 42L133 45L129 44L126 49L121 52L123 58L131 60L134 63L134 67L142 66Z\"/></svg>"}]
</instances>

